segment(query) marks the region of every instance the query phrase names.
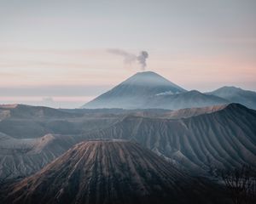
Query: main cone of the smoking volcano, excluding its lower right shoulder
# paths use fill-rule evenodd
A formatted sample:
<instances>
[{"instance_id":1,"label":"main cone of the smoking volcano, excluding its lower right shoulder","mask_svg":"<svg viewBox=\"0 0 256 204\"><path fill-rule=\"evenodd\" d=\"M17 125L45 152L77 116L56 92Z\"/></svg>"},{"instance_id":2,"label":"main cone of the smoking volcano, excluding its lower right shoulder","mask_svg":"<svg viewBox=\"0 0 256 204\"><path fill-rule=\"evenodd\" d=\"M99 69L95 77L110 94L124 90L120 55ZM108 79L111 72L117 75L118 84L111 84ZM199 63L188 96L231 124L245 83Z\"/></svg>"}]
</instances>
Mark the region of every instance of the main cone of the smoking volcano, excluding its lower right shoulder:
<instances>
[{"instance_id":1,"label":"main cone of the smoking volcano, excluding its lower right shoulder","mask_svg":"<svg viewBox=\"0 0 256 204\"><path fill-rule=\"evenodd\" d=\"M100 95L83 108L143 108L148 98L156 94L180 94L185 89L168 81L153 71L138 72L105 94Z\"/></svg>"}]
</instances>

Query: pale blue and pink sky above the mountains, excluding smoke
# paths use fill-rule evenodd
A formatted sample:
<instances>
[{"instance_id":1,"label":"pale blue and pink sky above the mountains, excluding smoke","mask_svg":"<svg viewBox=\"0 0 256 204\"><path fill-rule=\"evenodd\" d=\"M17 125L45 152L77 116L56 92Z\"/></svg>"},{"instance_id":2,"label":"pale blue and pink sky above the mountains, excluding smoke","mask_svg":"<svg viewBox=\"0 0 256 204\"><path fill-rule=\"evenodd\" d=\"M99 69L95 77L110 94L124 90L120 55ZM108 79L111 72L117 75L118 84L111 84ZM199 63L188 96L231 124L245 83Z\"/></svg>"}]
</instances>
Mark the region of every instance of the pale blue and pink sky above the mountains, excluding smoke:
<instances>
[{"instance_id":1,"label":"pale blue and pink sky above the mountains, excluding smoke","mask_svg":"<svg viewBox=\"0 0 256 204\"><path fill-rule=\"evenodd\" d=\"M0 104L76 108L146 71L256 91L255 0L0 0Z\"/></svg>"}]
</instances>

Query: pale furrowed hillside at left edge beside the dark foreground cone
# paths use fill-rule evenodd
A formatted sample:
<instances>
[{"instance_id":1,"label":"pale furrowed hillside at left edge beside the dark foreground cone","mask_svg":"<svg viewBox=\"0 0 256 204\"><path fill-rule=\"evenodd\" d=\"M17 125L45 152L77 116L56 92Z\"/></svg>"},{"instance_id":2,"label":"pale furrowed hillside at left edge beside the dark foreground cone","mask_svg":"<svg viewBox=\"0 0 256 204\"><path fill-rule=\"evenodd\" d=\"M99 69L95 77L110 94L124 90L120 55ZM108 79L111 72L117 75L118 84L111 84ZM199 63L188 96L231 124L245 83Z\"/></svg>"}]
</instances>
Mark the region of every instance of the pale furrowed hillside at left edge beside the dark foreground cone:
<instances>
[{"instance_id":1,"label":"pale furrowed hillside at left edge beside the dark foreground cone","mask_svg":"<svg viewBox=\"0 0 256 204\"><path fill-rule=\"evenodd\" d=\"M37 139L14 139L0 133L0 183L38 172L80 140L46 134Z\"/></svg>"}]
</instances>

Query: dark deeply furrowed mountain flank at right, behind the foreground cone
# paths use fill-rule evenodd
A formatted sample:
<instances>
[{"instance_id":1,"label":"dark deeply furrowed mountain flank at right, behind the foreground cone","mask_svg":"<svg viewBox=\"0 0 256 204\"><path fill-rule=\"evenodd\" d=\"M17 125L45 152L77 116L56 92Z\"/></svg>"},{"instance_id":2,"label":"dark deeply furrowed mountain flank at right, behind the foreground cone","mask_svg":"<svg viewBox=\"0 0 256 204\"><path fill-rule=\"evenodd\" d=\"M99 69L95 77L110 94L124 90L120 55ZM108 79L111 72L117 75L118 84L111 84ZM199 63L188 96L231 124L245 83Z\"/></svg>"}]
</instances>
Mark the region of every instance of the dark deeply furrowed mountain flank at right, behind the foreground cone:
<instances>
[{"instance_id":1,"label":"dark deeply furrowed mountain flank at right, behind the foreground cone","mask_svg":"<svg viewBox=\"0 0 256 204\"><path fill-rule=\"evenodd\" d=\"M176 120L127 116L96 137L137 141L195 173L256 167L256 111L238 104Z\"/></svg>"}]
</instances>

